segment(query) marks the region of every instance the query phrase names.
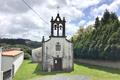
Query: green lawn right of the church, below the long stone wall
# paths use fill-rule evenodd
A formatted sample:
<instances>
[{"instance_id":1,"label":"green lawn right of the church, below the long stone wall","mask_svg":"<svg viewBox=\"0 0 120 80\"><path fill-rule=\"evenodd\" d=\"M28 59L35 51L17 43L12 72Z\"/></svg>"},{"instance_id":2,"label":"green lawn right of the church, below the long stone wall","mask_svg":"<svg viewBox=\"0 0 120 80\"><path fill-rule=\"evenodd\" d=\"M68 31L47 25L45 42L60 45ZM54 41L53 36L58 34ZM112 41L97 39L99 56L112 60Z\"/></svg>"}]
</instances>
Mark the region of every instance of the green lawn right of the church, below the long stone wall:
<instances>
[{"instance_id":1,"label":"green lawn right of the church, below the long stone wall","mask_svg":"<svg viewBox=\"0 0 120 80\"><path fill-rule=\"evenodd\" d=\"M86 64L75 64L75 70L71 74L86 75L91 80L120 80L120 69Z\"/></svg>"}]
</instances>

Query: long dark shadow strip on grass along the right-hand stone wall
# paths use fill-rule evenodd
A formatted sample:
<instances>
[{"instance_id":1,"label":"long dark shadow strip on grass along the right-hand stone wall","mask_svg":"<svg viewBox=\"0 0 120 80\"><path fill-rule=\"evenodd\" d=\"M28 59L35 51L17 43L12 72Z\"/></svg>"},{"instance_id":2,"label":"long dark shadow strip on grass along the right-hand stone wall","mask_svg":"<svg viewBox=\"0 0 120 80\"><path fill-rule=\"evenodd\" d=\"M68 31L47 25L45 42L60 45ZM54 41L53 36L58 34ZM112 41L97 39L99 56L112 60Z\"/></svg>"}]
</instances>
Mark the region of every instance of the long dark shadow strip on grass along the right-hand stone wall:
<instances>
[{"instance_id":1,"label":"long dark shadow strip on grass along the right-hand stone wall","mask_svg":"<svg viewBox=\"0 0 120 80\"><path fill-rule=\"evenodd\" d=\"M96 65L79 63L79 62L75 62L75 63L77 65L84 66L84 67L87 67L87 68L90 68L90 69L96 69L96 70L101 70L101 71L109 72L109 73L112 73L112 74L119 74L120 75L120 69L103 67L103 66L96 66Z\"/></svg>"}]
</instances>

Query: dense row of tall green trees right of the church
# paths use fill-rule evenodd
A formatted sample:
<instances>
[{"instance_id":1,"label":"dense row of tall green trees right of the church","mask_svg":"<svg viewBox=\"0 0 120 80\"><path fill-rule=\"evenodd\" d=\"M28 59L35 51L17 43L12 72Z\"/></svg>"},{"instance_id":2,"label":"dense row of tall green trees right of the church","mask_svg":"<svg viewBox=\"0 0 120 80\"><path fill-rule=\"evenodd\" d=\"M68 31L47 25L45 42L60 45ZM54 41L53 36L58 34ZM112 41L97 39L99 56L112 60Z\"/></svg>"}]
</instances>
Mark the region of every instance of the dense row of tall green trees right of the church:
<instances>
[{"instance_id":1,"label":"dense row of tall green trees right of the church","mask_svg":"<svg viewBox=\"0 0 120 80\"><path fill-rule=\"evenodd\" d=\"M72 41L75 58L120 60L120 21L114 12L105 10L94 25L80 27Z\"/></svg>"}]
</instances>

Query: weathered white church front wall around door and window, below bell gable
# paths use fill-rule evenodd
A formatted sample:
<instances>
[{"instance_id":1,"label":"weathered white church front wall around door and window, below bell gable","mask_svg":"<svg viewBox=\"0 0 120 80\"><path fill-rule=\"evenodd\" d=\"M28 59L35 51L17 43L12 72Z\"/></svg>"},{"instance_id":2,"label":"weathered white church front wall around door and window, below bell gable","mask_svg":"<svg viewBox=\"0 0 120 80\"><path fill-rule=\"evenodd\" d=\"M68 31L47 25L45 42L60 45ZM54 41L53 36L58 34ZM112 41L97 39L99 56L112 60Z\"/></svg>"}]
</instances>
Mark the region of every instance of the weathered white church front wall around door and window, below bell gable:
<instances>
[{"instance_id":1,"label":"weathered white church front wall around door and window, below bell gable","mask_svg":"<svg viewBox=\"0 0 120 80\"><path fill-rule=\"evenodd\" d=\"M56 43L59 42L61 50L56 51ZM46 65L53 66L53 57L62 57L63 69L73 67L73 48L72 43L68 42L65 38L52 37L48 42L43 43L43 68L47 68Z\"/></svg>"}]
</instances>

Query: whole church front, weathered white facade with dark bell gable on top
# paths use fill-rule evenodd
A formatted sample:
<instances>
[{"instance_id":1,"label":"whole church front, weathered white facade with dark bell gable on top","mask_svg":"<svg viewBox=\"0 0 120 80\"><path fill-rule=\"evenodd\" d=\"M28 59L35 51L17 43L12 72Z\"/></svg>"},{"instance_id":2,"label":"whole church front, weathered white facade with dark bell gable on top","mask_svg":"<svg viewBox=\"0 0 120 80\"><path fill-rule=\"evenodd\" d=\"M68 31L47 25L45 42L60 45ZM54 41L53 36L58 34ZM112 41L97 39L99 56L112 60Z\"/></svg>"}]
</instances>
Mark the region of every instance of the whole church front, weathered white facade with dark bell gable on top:
<instances>
[{"instance_id":1,"label":"whole church front, weathered white facade with dark bell gable on top","mask_svg":"<svg viewBox=\"0 0 120 80\"><path fill-rule=\"evenodd\" d=\"M43 71L72 71L73 70L73 44L65 36L65 17L59 14L51 19L50 39L42 44Z\"/></svg>"}]
</instances>

